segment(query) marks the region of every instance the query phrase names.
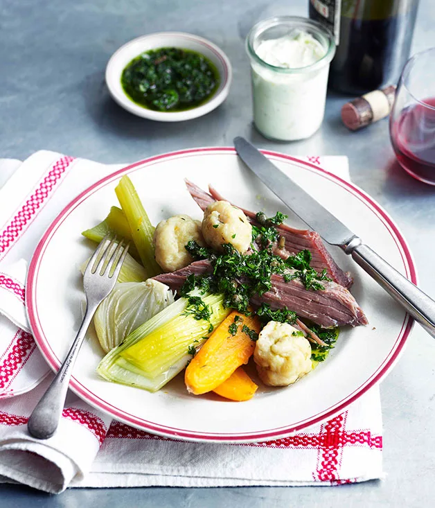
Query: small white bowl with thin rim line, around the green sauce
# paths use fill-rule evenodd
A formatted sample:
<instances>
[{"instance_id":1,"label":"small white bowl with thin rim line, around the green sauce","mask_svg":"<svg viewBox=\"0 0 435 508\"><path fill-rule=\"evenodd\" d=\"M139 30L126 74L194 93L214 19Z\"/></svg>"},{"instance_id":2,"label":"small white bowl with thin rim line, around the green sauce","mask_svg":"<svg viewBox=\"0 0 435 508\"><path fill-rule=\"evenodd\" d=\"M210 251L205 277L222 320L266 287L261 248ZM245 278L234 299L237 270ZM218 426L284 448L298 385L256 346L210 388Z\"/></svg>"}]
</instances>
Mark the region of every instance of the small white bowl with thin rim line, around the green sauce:
<instances>
[{"instance_id":1,"label":"small white bowl with thin rim line, around the green sauce","mask_svg":"<svg viewBox=\"0 0 435 508\"><path fill-rule=\"evenodd\" d=\"M136 104L125 94L121 86L121 75L125 66L144 51L168 47L197 51L197 53L202 53L202 55L211 60L215 65L219 72L220 85L208 102L193 107L191 110L161 112L148 110L148 108ZM124 46L121 46L121 48L112 55L106 67L106 83L114 100L125 110L130 111L130 113L142 116L145 119L161 122L190 120L211 112L227 98L232 78L233 71L231 69L231 63L222 49L203 37L182 32L160 32L137 37L137 39L133 39L127 42L127 44L124 44Z\"/></svg>"}]
</instances>

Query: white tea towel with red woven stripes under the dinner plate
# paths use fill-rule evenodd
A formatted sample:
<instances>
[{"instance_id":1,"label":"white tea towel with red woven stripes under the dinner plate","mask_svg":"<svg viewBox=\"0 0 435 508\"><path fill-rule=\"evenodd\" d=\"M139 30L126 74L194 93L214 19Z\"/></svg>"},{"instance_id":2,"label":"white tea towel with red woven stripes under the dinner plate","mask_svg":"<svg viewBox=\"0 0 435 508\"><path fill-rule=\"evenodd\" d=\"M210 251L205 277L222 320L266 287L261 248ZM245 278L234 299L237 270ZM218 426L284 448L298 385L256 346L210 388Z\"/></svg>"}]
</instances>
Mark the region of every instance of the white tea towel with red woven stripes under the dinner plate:
<instances>
[{"instance_id":1,"label":"white tea towel with red woven stripes under the dinner plate","mask_svg":"<svg viewBox=\"0 0 435 508\"><path fill-rule=\"evenodd\" d=\"M346 157L305 160L348 179ZM0 313L27 326L22 309L12 316L11 304L6 303L25 291L17 267L30 261L37 240L69 201L119 167L37 152L8 178L0 190L0 272L12 283L1 292ZM6 317L0 319L3 358L2 338L8 327L16 325ZM33 357L41 359L37 349ZM28 362L20 363L22 371L27 371ZM10 367L9 378L14 369ZM51 378L26 394L0 400L0 480L58 493L68 486L332 485L382 477L377 387L326 423L284 439L245 445L175 441L117 421L109 426L109 417L70 394L57 435L37 441L28 435L26 421ZM9 389L15 394L13 381Z\"/></svg>"}]
</instances>

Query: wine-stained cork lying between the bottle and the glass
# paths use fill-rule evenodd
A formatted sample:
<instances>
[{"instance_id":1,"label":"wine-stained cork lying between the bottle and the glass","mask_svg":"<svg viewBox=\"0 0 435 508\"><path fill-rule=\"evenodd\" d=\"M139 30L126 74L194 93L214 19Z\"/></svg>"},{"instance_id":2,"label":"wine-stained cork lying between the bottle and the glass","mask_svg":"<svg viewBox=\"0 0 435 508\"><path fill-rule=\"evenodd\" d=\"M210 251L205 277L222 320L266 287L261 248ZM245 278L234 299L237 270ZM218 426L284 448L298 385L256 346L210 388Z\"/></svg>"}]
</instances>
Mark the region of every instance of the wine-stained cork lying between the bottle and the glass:
<instances>
[{"instance_id":1,"label":"wine-stained cork lying between the bottle and the glass","mask_svg":"<svg viewBox=\"0 0 435 508\"><path fill-rule=\"evenodd\" d=\"M358 130L388 116L393 107L396 87L373 90L341 107L341 120L350 130Z\"/></svg>"}]
</instances>

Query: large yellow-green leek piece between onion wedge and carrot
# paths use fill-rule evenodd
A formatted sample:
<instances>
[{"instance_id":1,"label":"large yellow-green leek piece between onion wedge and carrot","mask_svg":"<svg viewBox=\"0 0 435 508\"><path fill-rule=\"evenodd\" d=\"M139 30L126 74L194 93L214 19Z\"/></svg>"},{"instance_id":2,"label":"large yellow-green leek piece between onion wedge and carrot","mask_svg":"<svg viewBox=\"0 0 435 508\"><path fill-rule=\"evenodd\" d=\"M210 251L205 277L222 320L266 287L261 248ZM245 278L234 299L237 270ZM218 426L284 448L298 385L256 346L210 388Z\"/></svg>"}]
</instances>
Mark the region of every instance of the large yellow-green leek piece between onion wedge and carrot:
<instances>
[{"instance_id":1,"label":"large yellow-green leek piece between onion wedge and carrot","mask_svg":"<svg viewBox=\"0 0 435 508\"><path fill-rule=\"evenodd\" d=\"M208 319L198 319L190 312L188 299L180 298L107 353L98 374L114 383L157 392L186 367L192 358L189 351L202 346L212 326L219 325L231 310L224 308L221 295L201 298L210 311Z\"/></svg>"}]
</instances>

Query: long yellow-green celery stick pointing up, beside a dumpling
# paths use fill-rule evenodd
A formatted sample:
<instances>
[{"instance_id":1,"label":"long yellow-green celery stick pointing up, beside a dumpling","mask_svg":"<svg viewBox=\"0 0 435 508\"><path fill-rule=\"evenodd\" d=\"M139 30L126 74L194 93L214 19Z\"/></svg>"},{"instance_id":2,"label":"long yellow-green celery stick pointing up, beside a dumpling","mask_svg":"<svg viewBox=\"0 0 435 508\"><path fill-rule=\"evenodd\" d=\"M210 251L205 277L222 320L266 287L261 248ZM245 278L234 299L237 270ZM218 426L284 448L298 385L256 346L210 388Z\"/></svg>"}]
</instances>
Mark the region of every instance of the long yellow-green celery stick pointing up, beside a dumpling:
<instances>
[{"instance_id":1,"label":"long yellow-green celery stick pointing up, beside a dumpling","mask_svg":"<svg viewBox=\"0 0 435 508\"><path fill-rule=\"evenodd\" d=\"M115 192L130 225L134 245L136 245L145 270L150 274L150 277L161 273L161 268L154 259L153 236L155 228L127 175L120 179Z\"/></svg>"}]
</instances>

